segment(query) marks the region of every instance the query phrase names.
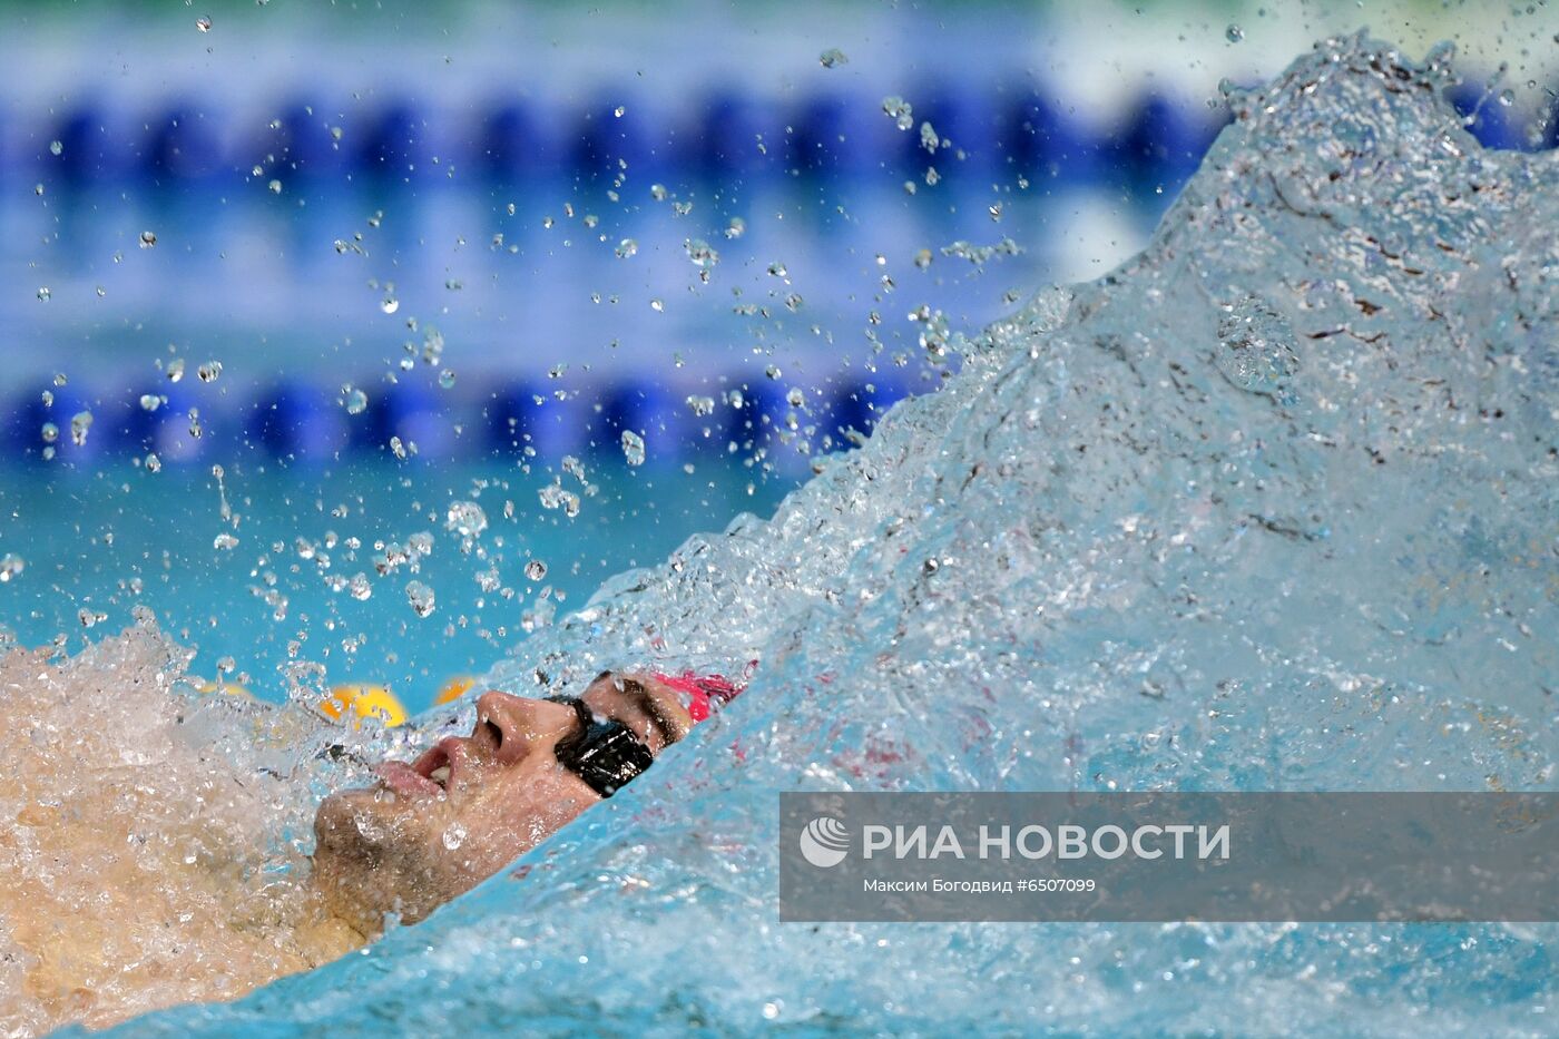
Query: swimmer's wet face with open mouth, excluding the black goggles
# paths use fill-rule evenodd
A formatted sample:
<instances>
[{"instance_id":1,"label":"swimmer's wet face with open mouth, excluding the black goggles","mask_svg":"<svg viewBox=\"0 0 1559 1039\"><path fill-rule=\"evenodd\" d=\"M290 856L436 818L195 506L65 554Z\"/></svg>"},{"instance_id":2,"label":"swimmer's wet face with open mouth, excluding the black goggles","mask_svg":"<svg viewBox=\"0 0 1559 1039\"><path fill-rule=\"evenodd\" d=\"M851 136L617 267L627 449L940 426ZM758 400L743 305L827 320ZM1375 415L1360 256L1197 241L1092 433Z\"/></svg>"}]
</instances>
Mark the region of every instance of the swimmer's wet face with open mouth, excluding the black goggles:
<instances>
[{"instance_id":1,"label":"swimmer's wet face with open mouth, excluding the black goggles","mask_svg":"<svg viewBox=\"0 0 1559 1039\"><path fill-rule=\"evenodd\" d=\"M692 725L649 676L602 674L580 699L656 755ZM313 828L315 883L331 908L368 934L385 913L419 920L602 800L555 754L578 729L569 704L490 691L469 736L387 761L371 789L327 797Z\"/></svg>"}]
</instances>

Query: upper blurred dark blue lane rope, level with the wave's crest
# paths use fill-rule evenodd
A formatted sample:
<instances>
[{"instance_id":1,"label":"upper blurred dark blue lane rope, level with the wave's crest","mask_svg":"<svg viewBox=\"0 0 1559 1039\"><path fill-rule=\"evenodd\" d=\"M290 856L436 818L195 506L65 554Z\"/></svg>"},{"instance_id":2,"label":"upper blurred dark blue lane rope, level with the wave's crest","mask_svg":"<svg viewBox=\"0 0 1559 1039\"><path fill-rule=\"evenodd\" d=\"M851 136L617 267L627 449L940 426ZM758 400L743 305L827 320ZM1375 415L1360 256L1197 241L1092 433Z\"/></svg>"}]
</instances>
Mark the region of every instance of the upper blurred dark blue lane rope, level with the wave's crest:
<instances>
[{"instance_id":1,"label":"upper blurred dark blue lane rope, level with the wave's crest","mask_svg":"<svg viewBox=\"0 0 1559 1039\"><path fill-rule=\"evenodd\" d=\"M999 156L1030 176L1093 179L1102 173L1099 159L1112 158L1137 178L1179 183L1221 125L1199 101L1147 92L1112 123L1090 128L1071 115L1057 90L1024 78L912 90L906 100L915 123L907 133L884 117L881 94L864 89L831 87L780 105L736 84L716 84L703 97L686 98L680 114L656 111L630 87L600 89L563 129L553 129L546 105L529 94L507 94L455 106L475 114L457 120L458 133L438 140L433 131L444 120L432 117L424 98L405 95L332 115L334 109L309 97L295 97L257 133L228 139L218 133L228 122L217 101L179 97L154 112L128 112L87 100L64 117L17 128L17 140L59 140L58 156L42 147L37 153L11 150L0 154L0 172L25 167L28 175L53 173L80 184L123 176L186 184L245 176L257 156L270 154L274 167L290 173L393 183L451 165L499 178L613 176L619 159L638 173L661 176L730 179L781 168L833 176L879 170L884 161L900 168L929 164L920 145L920 125L929 122L965 153L963 162L942 161L943 175ZM1551 148L1559 137L1553 112L1526 114L1470 84L1455 87L1451 100L1473 117L1470 129L1487 147ZM1528 115L1537 120L1531 139Z\"/></svg>"}]
</instances>

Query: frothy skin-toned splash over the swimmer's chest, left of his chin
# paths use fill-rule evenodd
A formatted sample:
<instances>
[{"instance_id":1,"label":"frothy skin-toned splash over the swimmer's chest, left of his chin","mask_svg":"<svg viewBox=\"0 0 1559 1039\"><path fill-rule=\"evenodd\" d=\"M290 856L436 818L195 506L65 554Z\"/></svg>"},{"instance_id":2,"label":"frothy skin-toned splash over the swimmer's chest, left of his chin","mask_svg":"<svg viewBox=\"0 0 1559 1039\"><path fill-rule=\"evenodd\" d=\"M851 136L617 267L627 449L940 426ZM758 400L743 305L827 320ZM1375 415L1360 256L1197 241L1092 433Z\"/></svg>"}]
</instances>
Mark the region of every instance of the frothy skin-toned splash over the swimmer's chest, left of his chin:
<instances>
[{"instance_id":1,"label":"frothy skin-toned splash over the swimmer's chest, left of his chin","mask_svg":"<svg viewBox=\"0 0 1559 1039\"><path fill-rule=\"evenodd\" d=\"M355 944L304 883L318 722L196 697L150 622L6 649L0 1034L231 998Z\"/></svg>"}]
</instances>

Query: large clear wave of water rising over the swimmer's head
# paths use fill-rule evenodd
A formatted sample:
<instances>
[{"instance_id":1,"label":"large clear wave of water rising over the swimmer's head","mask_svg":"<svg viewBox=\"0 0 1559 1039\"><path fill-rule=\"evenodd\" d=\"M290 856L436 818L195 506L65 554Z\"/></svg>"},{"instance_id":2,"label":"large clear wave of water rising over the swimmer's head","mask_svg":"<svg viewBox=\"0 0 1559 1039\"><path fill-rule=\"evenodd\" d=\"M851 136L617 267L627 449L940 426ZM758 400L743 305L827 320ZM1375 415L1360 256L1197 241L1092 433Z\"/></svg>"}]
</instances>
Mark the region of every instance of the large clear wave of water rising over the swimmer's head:
<instances>
[{"instance_id":1,"label":"large clear wave of water rising over the swimmer's head","mask_svg":"<svg viewBox=\"0 0 1559 1039\"><path fill-rule=\"evenodd\" d=\"M759 660L747 696L426 924L126 1034L1542 1031L1551 927L776 914L781 789L1551 785L1559 162L1483 151L1451 75L1356 37L1232 97L1140 257L494 676Z\"/></svg>"}]
</instances>

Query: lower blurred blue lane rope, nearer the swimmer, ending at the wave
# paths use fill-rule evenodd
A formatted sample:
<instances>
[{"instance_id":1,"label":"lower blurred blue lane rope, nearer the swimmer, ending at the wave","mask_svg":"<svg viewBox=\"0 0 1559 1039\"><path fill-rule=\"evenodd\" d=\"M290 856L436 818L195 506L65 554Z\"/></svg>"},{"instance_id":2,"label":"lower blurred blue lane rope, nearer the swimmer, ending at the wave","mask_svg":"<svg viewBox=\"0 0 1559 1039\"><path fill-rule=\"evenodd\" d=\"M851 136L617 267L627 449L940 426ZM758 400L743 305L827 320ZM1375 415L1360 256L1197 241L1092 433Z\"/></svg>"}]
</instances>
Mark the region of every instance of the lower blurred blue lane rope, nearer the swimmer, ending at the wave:
<instances>
[{"instance_id":1,"label":"lower blurred blue lane rope, nearer the swimmer, ending at the wave","mask_svg":"<svg viewBox=\"0 0 1559 1039\"><path fill-rule=\"evenodd\" d=\"M557 385L510 379L461 393L398 384L349 413L340 388L284 381L251 395L212 396L200 385L137 385L94 396L76 385L39 384L0 409L0 448L8 457L41 459L114 452L164 465L198 462L214 448L235 448L298 463L359 456L404 460L510 456L557 462L566 454L622 459L624 432L641 437L656 463L683 463L755 449L781 452L795 431L817 449L848 449L850 431L870 434L890 404L910 393L893 378L845 381L786 399L770 379L728 378L706 384L608 382L557 396ZM45 404L44 393L51 395ZM689 399L691 398L691 399ZM708 404L697 404L706 399ZM147 402L151 402L148 407ZM708 407L708 410L705 410ZM70 421L90 413L81 446ZM53 426L51 440L45 426ZM196 432L198 431L198 432ZM399 445L399 449L396 448Z\"/></svg>"}]
</instances>

